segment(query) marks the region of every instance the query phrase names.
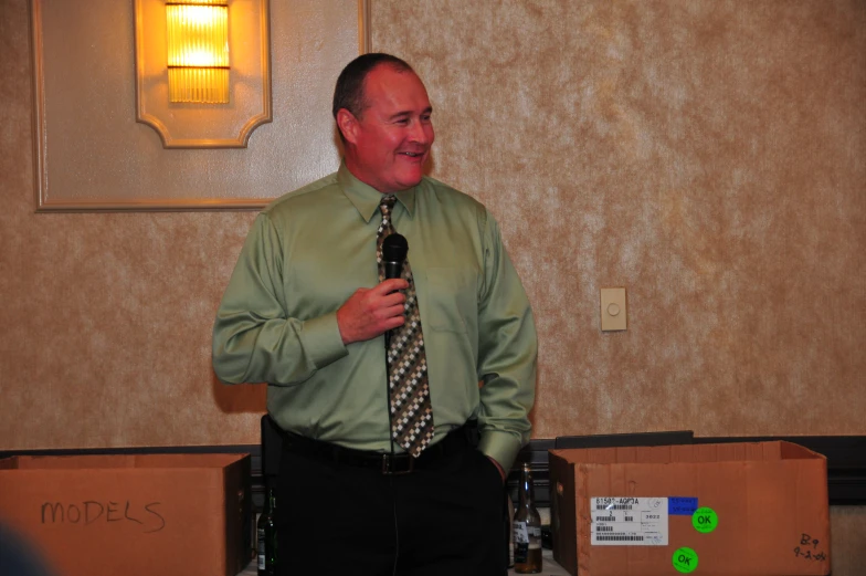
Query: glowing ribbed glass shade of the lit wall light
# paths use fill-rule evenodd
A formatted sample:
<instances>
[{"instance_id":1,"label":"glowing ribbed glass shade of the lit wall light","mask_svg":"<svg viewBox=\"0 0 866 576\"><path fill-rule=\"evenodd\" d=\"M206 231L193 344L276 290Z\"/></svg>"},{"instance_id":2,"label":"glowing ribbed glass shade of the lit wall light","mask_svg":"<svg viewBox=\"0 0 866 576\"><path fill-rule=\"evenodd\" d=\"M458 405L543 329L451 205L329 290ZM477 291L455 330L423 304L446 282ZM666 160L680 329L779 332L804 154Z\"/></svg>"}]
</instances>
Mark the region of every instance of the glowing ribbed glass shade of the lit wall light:
<instances>
[{"instance_id":1,"label":"glowing ribbed glass shade of the lit wall light","mask_svg":"<svg viewBox=\"0 0 866 576\"><path fill-rule=\"evenodd\" d=\"M166 2L171 102L229 102L229 0Z\"/></svg>"}]
</instances>

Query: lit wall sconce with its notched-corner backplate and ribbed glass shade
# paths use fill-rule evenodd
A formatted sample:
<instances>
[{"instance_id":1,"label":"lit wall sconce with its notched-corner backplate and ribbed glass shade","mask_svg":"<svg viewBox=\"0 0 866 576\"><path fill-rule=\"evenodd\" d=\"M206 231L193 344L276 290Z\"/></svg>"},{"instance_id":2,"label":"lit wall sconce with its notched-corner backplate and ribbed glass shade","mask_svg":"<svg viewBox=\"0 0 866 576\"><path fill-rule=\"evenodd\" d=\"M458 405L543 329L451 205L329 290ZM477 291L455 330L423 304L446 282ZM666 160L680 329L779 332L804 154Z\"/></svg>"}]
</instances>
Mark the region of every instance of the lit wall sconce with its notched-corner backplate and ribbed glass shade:
<instances>
[{"instance_id":1,"label":"lit wall sconce with its notched-corner backplate and ribbed glass shade","mask_svg":"<svg viewBox=\"0 0 866 576\"><path fill-rule=\"evenodd\" d=\"M135 0L136 121L165 148L245 148L271 122L268 10L267 0Z\"/></svg>"}]
</instances>

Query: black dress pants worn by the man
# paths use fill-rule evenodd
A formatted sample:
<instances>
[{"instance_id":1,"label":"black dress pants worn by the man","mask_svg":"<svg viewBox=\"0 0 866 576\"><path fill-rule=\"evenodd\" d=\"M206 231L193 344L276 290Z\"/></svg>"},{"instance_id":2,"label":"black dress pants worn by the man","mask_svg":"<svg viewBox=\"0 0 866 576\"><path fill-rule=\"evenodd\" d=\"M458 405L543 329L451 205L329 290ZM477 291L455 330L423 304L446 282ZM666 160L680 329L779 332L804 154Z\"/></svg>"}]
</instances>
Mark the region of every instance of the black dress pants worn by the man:
<instances>
[{"instance_id":1,"label":"black dress pants worn by the man","mask_svg":"<svg viewBox=\"0 0 866 576\"><path fill-rule=\"evenodd\" d=\"M291 449L277 483L281 576L504 576L505 488L471 446L408 474Z\"/></svg>"}]
</instances>

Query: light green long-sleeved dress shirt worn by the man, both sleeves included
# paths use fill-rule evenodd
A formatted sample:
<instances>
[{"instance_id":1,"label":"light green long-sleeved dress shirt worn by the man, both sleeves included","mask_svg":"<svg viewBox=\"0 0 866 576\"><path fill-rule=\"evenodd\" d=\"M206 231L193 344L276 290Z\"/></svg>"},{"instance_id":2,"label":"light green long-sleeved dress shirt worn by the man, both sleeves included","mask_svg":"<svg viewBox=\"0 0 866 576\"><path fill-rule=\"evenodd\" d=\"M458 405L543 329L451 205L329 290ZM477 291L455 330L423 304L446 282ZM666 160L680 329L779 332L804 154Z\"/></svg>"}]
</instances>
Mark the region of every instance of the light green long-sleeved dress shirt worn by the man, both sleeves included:
<instances>
[{"instance_id":1,"label":"light green long-sleeved dress shirt worn by the man, both sleeves included","mask_svg":"<svg viewBox=\"0 0 866 576\"><path fill-rule=\"evenodd\" d=\"M267 383L277 425L360 450L390 450L384 337L344 345L337 308L378 283L382 195L346 168L265 208L213 326L226 384ZM434 442L478 420L479 449L506 470L529 440L537 336L493 217L432 178L397 193L427 357ZM479 386L483 383L483 386Z\"/></svg>"}]
</instances>

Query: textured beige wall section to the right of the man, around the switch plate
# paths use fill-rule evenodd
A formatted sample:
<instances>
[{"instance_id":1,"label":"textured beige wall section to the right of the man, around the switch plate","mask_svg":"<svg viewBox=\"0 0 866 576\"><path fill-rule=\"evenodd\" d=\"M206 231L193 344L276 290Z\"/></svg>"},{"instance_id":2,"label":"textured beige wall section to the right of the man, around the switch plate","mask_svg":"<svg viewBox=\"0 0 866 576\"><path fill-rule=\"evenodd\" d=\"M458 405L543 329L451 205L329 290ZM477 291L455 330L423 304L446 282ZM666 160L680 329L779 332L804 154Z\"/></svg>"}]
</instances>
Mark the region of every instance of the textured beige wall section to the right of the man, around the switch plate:
<instances>
[{"instance_id":1,"label":"textured beige wall section to the right of the man, around the switch plate","mask_svg":"<svg viewBox=\"0 0 866 576\"><path fill-rule=\"evenodd\" d=\"M866 2L377 1L371 30L429 84L434 174L503 221L536 437L866 433Z\"/></svg>"}]
</instances>

